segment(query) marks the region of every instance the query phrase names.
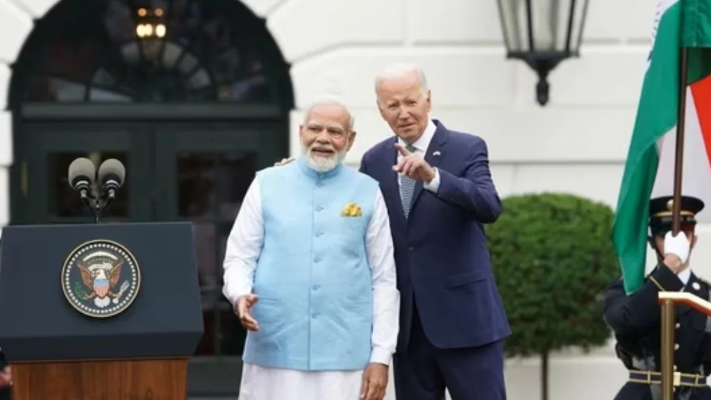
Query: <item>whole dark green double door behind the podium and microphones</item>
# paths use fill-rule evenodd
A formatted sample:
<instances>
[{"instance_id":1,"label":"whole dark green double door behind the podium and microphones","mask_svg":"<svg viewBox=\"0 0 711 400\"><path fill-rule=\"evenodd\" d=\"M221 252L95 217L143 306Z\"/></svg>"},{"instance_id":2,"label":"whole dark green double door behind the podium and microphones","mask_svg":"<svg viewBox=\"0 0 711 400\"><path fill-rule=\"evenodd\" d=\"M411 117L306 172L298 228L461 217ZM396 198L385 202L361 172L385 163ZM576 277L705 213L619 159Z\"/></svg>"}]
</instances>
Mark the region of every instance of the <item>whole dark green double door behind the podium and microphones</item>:
<instances>
[{"instance_id":1,"label":"whole dark green double door behind the podium and microphones","mask_svg":"<svg viewBox=\"0 0 711 400\"><path fill-rule=\"evenodd\" d=\"M105 221L192 221L205 335L188 374L193 394L235 394L245 332L223 295L222 260L242 199L259 169L281 159L279 124L27 125L16 163L13 223L90 223L69 188L76 157L117 158L125 186Z\"/></svg>"}]
</instances>

